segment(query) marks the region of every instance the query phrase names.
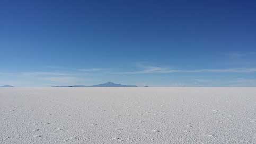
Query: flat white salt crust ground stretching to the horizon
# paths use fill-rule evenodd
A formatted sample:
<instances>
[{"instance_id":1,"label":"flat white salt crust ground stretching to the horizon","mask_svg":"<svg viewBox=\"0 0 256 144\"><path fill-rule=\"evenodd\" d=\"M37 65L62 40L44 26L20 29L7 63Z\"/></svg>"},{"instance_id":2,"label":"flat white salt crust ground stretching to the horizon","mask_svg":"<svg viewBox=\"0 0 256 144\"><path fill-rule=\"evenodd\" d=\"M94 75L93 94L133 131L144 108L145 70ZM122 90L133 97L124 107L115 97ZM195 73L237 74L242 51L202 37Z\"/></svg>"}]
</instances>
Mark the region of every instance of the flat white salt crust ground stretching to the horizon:
<instances>
[{"instance_id":1,"label":"flat white salt crust ground stretching to the horizon","mask_svg":"<svg viewBox=\"0 0 256 144\"><path fill-rule=\"evenodd\" d=\"M256 143L256 87L0 88L0 143Z\"/></svg>"}]
</instances>

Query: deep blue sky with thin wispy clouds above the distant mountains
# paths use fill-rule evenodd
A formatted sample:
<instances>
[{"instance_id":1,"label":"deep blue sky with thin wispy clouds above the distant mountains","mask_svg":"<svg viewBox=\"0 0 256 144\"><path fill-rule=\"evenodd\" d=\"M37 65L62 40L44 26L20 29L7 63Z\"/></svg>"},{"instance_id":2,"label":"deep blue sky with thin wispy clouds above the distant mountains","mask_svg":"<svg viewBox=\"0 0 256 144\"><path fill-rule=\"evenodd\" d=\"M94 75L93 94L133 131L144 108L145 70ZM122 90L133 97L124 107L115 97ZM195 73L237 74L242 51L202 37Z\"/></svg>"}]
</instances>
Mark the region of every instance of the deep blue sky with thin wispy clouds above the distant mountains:
<instances>
[{"instance_id":1,"label":"deep blue sky with thin wispy clouds above the distant mountains","mask_svg":"<svg viewBox=\"0 0 256 144\"><path fill-rule=\"evenodd\" d=\"M255 1L0 3L0 85L256 86Z\"/></svg>"}]
</instances>

